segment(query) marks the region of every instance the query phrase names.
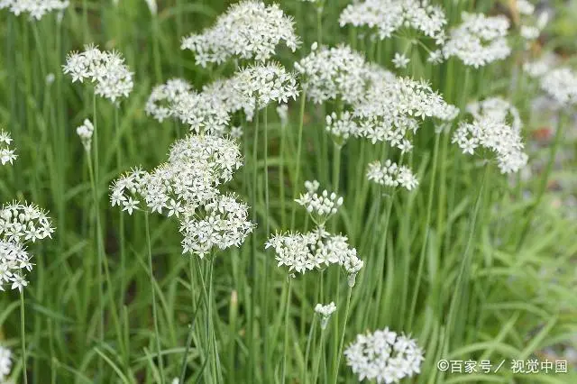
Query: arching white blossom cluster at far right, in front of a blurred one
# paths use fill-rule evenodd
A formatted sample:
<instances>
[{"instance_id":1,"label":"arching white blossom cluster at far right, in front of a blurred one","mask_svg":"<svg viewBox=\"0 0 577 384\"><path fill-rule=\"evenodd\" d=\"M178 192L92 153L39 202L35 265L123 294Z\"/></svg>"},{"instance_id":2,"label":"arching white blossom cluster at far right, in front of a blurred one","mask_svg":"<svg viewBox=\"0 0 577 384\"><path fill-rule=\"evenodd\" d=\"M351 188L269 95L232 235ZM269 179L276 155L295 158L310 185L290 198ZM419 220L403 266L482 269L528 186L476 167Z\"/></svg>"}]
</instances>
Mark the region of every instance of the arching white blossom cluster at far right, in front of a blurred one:
<instances>
[{"instance_id":1,"label":"arching white blossom cluster at far right, in front of a blurred one","mask_svg":"<svg viewBox=\"0 0 577 384\"><path fill-rule=\"evenodd\" d=\"M520 131L505 122L490 118L462 122L453 134L452 142L463 153L473 154L479 147L495 152L501 173L517 172L527 165Z\"/></svg>"}]
</instances>

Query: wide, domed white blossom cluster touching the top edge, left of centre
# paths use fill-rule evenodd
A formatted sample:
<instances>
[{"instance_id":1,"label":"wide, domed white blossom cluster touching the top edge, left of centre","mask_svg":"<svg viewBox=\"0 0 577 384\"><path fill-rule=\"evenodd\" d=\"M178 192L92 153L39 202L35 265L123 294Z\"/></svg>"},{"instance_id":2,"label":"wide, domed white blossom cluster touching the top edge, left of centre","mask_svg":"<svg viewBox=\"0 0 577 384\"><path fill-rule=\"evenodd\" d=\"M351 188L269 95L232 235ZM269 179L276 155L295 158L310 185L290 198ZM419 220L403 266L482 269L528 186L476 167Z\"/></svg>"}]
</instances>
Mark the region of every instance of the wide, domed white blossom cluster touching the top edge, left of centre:
<instances>
[{"instance_id":1,"label":"wide, domed white blossom cluster touching the top edge, left of centre","mask_svg":"<svg viewBox=\"0 0 577 384\"><path fill-rule=\"evenodd\" d=\"M297 50L299 41L292 18L279 5L245 0L231 5L214 26L184 38L180 48L192 50L197 64L206 67L231 57L266 61L280 41L293 52Z\"/></svg>"}]
</instances>

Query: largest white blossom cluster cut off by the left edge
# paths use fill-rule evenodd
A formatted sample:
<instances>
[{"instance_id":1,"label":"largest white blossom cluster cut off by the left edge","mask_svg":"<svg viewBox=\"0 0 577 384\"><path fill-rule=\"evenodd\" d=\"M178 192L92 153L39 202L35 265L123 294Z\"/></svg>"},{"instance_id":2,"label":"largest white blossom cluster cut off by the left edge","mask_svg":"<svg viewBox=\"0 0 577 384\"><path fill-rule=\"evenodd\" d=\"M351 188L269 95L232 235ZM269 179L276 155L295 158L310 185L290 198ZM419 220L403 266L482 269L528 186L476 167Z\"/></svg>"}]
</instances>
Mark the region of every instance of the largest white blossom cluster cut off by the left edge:
<instances>
[{"instance_id":1,"label":"largest white blossom cluster cut off by the left edge","mask_svg":"<svg viewBox=\"0 0 577 384\"><path fill-rule=\"evenodd\" d=\"M0 209L0 290L10 285L22 290L28 286L26 271L32 270L27 242L51 237L50 217L38 206L13 202Z\"/></svg>"}]
</instances>

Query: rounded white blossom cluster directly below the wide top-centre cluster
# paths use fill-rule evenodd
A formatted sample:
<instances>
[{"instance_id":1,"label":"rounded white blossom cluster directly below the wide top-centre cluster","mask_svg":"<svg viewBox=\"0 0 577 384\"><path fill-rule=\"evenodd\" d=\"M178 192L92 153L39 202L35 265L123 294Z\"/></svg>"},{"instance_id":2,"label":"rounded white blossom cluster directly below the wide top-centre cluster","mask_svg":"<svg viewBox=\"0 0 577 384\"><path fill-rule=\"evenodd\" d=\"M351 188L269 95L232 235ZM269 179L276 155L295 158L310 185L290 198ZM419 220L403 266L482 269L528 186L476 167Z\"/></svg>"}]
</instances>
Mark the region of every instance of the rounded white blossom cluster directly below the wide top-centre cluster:
<instances>
[{"instance_id":1,"label":"rounded white blossom cluster directly below the wide top-centre cluster","mask_svg":"<svg viewBox=\"0 0 577 384\"><path fill-rule=\"evenodd\" d=\"M278 63L252 65L237 75L235 88L255 100L259 109L271 102L287 103L298 96L297 78Z\"/></svg>"}]
</instances>

